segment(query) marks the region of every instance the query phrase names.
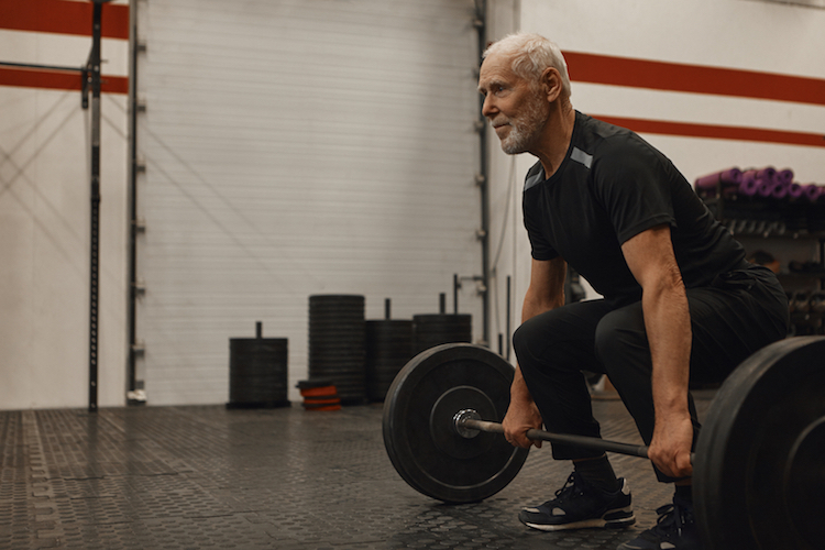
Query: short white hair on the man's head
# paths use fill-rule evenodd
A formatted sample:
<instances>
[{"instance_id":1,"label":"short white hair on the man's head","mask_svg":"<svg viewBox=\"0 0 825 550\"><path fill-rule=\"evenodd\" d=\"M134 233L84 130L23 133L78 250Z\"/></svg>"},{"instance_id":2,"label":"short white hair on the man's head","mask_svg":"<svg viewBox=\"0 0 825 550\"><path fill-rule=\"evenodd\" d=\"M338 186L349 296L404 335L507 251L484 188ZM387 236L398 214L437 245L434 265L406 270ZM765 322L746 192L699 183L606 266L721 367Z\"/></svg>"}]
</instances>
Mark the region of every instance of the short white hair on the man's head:
<instances>
[{"instance_id":1,"label":"short white hair on the man's head","mask_svg":"<svg viewBox=\"0 0 825 550\"><path fill-rule=\"evenodd\" d=\"M521 32L508 34L493 43L482 54L482 58L487 58L493 54L512 56L513 73L530 80L534 85L539 81L546 68L557 69L561 75L562 95L571 96L568 63L564 61L561 50L540 34Z\"/></svg>"}]
</instances>

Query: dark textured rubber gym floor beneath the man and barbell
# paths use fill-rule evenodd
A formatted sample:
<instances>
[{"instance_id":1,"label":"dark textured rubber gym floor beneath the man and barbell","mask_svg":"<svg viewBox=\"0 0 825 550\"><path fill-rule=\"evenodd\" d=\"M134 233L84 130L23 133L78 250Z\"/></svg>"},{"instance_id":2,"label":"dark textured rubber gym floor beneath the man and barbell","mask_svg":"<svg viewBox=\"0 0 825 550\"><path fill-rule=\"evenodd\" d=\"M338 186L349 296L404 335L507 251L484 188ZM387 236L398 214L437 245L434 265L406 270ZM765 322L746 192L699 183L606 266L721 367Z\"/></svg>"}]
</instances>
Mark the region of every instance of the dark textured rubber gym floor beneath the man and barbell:
<instances>
[{"instance_id":1,"label":"dark textured rubber gym floor beneath the man and barbell","mask_svg":"<svg viewBox=\"0 0 825 550\"><path fill-rule=\"evenodd\" d=\"M698 397L700 414L708 399ZM605 439L640 442L620 402L593 404ZM393 469L381 404L0 411L0 444L3 550L614 549L654 525L671 497L648 461L614 454L636 526L528 529L518 510L570 473L546 446L497 495L444 505Z\"/></svg>"}]
</instances>

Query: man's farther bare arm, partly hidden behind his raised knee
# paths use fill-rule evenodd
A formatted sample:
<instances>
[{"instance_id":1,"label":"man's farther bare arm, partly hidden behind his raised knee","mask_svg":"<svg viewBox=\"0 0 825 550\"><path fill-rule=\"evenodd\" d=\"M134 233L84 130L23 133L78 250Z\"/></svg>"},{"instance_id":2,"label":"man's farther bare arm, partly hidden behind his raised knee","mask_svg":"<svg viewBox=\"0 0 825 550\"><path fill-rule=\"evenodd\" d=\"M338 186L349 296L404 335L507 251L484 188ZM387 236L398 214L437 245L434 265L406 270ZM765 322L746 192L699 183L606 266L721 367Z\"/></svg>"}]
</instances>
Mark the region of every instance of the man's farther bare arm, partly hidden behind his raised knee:
<instances>
[{"instance_id":1,"label":"man's farther bare arm, partly hidden behind his raised knee","mask_svg":"<svg viewBox=\"0 0 825 550\"><path fill-rule=\"evenodd\" d=\"M564 305L565 274L566 264L561 257L543 262L532 261L530 286L527 288L521 308L521 322ZM531 444L541 447L541 441L532 441L525 435L531 428L541 428L542 420L518 365L510 386L510 405L502 425L504 437L514 446L525 449Z\"/></svg>"}]
</instances>

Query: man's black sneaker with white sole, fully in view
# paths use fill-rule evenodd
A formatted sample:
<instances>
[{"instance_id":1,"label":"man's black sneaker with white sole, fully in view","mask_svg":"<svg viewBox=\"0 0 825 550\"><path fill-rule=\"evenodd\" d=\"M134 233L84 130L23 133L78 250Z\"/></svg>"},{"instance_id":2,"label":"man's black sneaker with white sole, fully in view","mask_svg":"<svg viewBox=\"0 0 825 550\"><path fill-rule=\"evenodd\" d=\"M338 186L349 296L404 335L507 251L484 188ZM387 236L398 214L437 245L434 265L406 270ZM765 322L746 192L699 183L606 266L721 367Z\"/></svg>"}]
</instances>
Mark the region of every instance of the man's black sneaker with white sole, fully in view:
<instances>
[{"instance_id":1,"label":"man's black sneaker with white sole, fully in view","mask_svg":"<svg viewBox=\"0 0 825 550\"><path fill-rule=\"evenodd\" d=\"M607 493L590 485L578 473L568 477L556 498L536 508L525 508L518 519L527 527L542 531L583 529L585 527L622 528L636 522L630 506L627 481L619 479L620 488Z\"/></svg>"}]
</instances>

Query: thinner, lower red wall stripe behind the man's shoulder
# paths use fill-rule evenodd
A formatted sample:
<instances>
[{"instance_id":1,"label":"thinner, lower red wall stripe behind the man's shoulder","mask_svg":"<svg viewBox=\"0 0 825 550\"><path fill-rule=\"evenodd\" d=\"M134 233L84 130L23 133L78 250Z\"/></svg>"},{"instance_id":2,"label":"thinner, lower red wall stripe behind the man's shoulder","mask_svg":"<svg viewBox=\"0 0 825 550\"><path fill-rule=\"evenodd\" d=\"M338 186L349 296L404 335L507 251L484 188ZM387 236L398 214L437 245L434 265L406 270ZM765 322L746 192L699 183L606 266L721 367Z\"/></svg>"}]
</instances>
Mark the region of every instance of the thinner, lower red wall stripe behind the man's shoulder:
<instances>
[{"instance_id":1,"label":"thinner, lower red wall stripe behind the man's shoulder","mask_svg":"<svg viewBox=\"0 0 825 550\"><path fill-rule=\"evenodd\" d=\"M783 130L766 130L747 127L694 124L690 122L670 122L664 120L628 119L623 117L601 117L598 114L594 114L594 117L598 120L603 120L617 127L627 128L638 133L825 147L825 135L815 133L788 132Z\"/></svg>"}]
</instances>

